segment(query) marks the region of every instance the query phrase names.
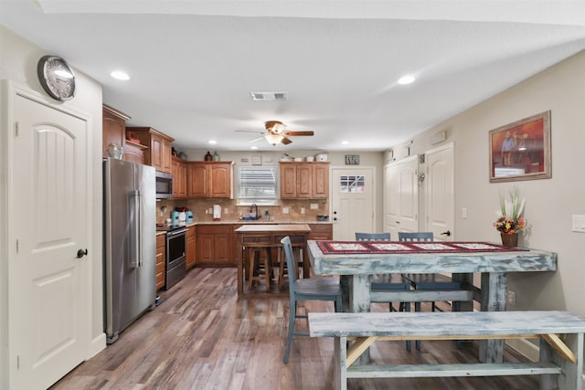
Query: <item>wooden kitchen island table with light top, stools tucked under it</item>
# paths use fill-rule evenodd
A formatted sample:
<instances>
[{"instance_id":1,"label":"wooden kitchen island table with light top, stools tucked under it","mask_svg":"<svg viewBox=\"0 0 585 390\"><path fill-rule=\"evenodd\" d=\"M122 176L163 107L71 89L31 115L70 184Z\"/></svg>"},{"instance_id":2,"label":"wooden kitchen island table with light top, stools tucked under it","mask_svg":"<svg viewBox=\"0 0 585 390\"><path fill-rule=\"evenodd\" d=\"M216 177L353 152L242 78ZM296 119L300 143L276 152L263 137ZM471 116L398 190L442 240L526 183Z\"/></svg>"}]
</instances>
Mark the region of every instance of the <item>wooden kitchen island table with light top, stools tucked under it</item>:
<instances>
[{"instance_id":1,"label":"wooden kitchen island table with light top, stools tucked under it","mask_svg":"<svg viewBox=\"0 0 585 390\"><path fill-rule=\"evenodd\" d=\"M282 237L291 237L293 248L300 248L303 262L303 278L309 278L309 261L307 256L307 238L311 227L307 224L249 224L234 230L238 237L238 295L244 293L245 258L250 257L251 250L265 249L270 256L272 248L282 248Z\"/></svg>"}]
</instances>

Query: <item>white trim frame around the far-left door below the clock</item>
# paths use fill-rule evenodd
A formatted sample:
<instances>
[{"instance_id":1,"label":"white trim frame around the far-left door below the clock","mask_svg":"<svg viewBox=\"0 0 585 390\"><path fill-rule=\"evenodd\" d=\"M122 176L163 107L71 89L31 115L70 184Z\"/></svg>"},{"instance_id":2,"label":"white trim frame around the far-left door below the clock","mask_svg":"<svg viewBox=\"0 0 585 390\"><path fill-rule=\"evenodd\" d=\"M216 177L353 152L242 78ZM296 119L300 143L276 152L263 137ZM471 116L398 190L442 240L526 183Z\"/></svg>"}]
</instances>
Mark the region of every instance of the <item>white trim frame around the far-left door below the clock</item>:
<instances>
[{"instance_id":1,"label":"white trim frame around the far-left door below the clock","mask_svg":"<svg viewBox=\"0 0 585 390\"><path fill-rule=\"evenodd\" d=\"M31 90L27 87L17 84L12 80L2 80L0 83L0 220L5 221L4 224L0 224L0 388L10 388L10 384L14 383L17 364L14 358L15 351L11 350L10 343L10 332L13 331L10 327L10 319L8 315L12 305L15 305L13 300L8 300L9 296L12 296L10 289L10 279L14 279L15 270L10 266L11 258L16 258L16 233L11 231L9 227L14 225L16 216L16 210L10 207L13 204L15 194L12 193L11 187L14 181L19 177L17 167L14 166L14 138L17 132L15 123L15 101L16 97L21 96L24 99L32 100L37 104L46 106L52 110L61 111L70 116L78 117L80 120L85 121L88 125L88 134L85 147L85 154L88 156L88 163L86 164L85 175L87 180L87 209L85 210L85 219L88 221L86 246L88 248L89 255L85 259L84 275L83 275L83 288L85 289L84 294L87 297L88 304L83 313L80 316L84 318L84 331L85 337L81 342L85 343L85 358L90 357L90 353L93 352L91 343L91 319L93 310L93 272L92 263L94 261L101 260L100 251L96 251L93 245L94 243L94 227L93 227L93 174L92 174L92 163L91 157L93 155L91 144L93 142L91 136L92 129L92 118L89 114L77 110L70 102L57 104L53 100L49 100L45 95ZM13 245L14 243L14 245ZM97 255L97 256L96 256ZM16 302L17 305L17 302ZM80 362L81 363L81 362Z\"/></svg>"}]
</instances>

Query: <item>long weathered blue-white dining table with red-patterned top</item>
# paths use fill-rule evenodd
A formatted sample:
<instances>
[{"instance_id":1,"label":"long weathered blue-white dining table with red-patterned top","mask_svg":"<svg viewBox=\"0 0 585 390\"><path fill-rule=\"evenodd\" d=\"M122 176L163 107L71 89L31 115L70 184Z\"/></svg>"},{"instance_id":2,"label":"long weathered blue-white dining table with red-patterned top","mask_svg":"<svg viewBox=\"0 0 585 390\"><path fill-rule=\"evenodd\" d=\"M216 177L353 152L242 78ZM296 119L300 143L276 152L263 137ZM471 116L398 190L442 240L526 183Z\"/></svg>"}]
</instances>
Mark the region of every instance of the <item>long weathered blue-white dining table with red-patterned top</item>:
<instances>
[{"instance_id":1,"label":"long weathered blue-white dining table with red-patterned top","mask_svg":"<svg viewBox=\"0 0 585 390\"><path fill-rule=\"evenodd\" d=\"M532 248L506 248L489 242L307 242L315 275L339 275L344 290L344 311L370 311L370 276L376 274L452 274L474 291L482 311L505 311L507 276L511 272L557 270L557 254ZM481 274L481 287L473 286L473 274ZM412 297L416 290L408 291ZM423 294L424 291L420 291ZM409 300L405 300L409 301ZM462 306L473 310L473 304ZM504 340L480 342L483 363L502 363Z\"/></svg>"}]
</instances>

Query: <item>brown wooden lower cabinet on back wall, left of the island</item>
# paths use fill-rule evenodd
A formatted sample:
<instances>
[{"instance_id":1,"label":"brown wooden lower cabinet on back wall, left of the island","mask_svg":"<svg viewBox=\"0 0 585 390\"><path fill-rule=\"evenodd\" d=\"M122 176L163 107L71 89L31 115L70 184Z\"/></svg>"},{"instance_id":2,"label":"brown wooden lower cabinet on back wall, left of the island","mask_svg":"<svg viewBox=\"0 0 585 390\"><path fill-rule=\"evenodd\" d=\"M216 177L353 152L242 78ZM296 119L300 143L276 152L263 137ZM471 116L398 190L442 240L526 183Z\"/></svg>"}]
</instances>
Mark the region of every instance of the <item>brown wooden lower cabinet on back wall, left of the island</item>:
<instances>
[{"instance_id":1,"label":"brown wooden lower cabinet on back wall, left of the island","mask_svg":"<svg viewBox=\"0 0 585 390\"><path fill-rule=\"evenodd\" d=\"M197 225L197 266L234 267L231 225Z\"/></svg>"}]
</instances>

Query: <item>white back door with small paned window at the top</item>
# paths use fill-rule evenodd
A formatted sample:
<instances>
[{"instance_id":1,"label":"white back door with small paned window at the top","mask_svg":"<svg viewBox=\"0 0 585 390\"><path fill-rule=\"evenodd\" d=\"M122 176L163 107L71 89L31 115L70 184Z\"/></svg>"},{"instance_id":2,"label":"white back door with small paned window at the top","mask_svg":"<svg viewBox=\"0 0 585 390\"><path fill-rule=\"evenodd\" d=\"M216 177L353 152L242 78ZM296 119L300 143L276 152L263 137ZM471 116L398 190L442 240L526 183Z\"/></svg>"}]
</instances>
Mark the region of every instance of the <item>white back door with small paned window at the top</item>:
<instances>
[{"instance_id":1,"label":"white back door with small paned window at the top","mask_svg":"<svg viewBox=\"0 0 585 390\"><path fill-rule=\"evenodd\" d=\"M333 238L354 240L356 232L373 233L376 227L374 169L334 167L331 177Z\"/></svg>"}]
</instances>

